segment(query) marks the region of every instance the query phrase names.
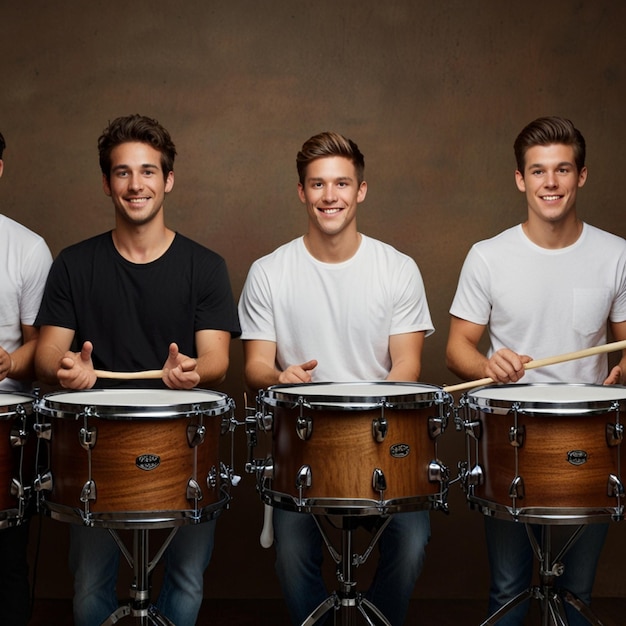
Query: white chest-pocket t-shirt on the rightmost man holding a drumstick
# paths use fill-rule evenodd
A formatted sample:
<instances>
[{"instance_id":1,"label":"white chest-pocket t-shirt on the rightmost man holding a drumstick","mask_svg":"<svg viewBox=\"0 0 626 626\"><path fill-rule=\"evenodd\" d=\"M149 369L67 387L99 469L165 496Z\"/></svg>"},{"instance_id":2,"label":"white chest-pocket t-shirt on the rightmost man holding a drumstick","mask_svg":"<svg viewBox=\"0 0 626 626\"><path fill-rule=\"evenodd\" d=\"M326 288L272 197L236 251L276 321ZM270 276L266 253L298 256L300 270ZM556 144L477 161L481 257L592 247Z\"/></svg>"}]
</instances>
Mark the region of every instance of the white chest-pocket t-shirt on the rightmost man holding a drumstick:
<instances>
[{"instance_id":1,"label":"white chest-pocket t-shirt on the rightmost man holding a drumstick","mask_svg":"<svg viewBox=\"0 0 626 626\"><path fill-rule=\"evenodd\" d=\"M450 308L489 325L489 354L506 347L541 359L603 345L607 321L626 320L626 241L583 224L576 241L551 250L521 224L470 250ZM522 382L602 383L599 355L528 370Z\"/></svg>"}]
</instances>

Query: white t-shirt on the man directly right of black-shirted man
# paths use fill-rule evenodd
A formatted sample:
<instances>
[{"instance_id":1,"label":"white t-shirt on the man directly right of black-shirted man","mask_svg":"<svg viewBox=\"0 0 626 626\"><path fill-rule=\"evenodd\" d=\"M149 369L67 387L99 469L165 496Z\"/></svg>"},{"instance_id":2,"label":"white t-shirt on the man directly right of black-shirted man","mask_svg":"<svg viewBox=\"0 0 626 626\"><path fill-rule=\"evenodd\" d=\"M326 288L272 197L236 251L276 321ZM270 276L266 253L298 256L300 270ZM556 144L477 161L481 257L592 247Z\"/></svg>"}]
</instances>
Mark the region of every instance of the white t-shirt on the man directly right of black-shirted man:
<instances>
[{"instance_id":1,"label":"white t-shirt on the man directly right of black-shirted man","mask_svg":"<svg viewBox=\"0 0 626 626\"><path fill-rule=\"evenodd\" d=\"M242 339L276 343L279 369L317 359L314 381L384 380L389 336L434 332L415 261L362 236L343 263L299 237L254 262L239 301Z\"/></svg>"}]
</instances>

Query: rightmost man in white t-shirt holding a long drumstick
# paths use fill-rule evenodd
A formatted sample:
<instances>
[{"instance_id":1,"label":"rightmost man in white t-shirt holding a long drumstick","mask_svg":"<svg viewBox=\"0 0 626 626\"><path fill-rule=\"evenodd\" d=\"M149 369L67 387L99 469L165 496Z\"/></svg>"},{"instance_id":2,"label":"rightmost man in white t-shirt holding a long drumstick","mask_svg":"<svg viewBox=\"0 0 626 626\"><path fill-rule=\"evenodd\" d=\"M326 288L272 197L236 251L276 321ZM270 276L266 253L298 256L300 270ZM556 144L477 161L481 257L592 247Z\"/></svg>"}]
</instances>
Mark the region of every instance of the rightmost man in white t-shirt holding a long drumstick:
<instances>
[{"instance_id":1,"label":"rightmost man in white t-shirt holding a long drumstick","mask_svg":"<svg viewBox=\"0 0 626 626\"><path fill-rule=\"evenodd\" d=\"M514 149L515 181L528 216L467 255L450 308L447 365L466 380L623 383L623 356L610 372L606 354L524 370L532 359L605 344L607 325L615 340L626 339L626 241L576 214L577 193L587 180L585 140L569 120L531 122ZM484 355L478 344L486 329ZM586 604L607 527L587 525L557 581ZM485 528L491 614L530 586L533 557L524 524L485 516ZM525 602L498 625L521 626L527 610ZM566 612L570 626L588 623L569 604Z\"/></svg>"}]
</instances>

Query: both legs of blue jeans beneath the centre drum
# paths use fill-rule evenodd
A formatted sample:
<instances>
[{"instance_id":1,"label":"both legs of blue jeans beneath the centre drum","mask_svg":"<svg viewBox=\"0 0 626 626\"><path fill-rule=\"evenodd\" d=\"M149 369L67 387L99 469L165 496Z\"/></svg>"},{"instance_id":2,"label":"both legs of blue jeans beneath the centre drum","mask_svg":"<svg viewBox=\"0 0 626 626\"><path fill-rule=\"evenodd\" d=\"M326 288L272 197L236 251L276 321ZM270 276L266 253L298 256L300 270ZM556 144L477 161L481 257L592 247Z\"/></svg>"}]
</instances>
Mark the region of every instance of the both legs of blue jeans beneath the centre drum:
<instances>
[{"instance_id":1,"label":"both legs of blue jeans beneath the centre drum","mask_svg":"<svg viewBox=\"0 0 626 626\"><path fill-rule=\"evenodd\" d=\"M393 626L405 622L429 538L428 511L418 511L394 515L379 539L378 567L366 597ZM311 515L277 508L274 543L276 573L291 621L302 624L329 595L321 572L325 548L319 528Z\"/></svg>"}]
</instances>

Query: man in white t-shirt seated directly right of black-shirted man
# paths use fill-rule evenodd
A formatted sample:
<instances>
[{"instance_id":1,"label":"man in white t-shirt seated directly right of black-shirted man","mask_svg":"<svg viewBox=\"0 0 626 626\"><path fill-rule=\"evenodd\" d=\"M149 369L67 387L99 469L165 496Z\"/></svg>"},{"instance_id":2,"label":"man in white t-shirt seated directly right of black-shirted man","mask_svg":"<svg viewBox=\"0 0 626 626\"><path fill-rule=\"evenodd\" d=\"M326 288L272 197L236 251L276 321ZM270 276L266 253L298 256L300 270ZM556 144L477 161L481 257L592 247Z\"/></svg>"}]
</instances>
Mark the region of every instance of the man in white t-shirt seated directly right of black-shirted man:
<instances>
[{"instance_id":1,"label":"man in white t-shirt seated directly right of black-shirted man","mask_svg":"<svg viewBox=\"0 0 626 626\"><path fill-rule=\"evenodd\" d=\"M424 285L411 258L357 230L363 155L326 132L307 140L296 162L308 229L250 269L239 303L246 383L417 381L434 331ZM311 515L280 508L274 530L276 571L301 624L328 596L322 539ZM429 534L427 511L402 512L380 538L367 598L394 626L404 623Z\"/></svg>"}]
</instances>

